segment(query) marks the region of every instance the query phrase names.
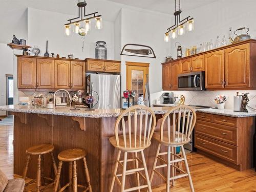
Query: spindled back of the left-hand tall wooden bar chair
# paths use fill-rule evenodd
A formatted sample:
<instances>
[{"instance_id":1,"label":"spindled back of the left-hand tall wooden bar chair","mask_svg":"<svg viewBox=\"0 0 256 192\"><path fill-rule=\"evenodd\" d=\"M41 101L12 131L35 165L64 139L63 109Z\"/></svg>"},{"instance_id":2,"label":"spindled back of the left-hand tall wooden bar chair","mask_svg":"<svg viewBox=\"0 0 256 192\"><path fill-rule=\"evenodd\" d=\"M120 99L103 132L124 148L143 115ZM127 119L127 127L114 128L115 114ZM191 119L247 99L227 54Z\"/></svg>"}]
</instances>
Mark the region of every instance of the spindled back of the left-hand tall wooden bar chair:
<instances>
[{"instance_id":1,"label":"spindled back of the left-hand tall wooden bar chair","mask_svg":"<svg viewBox=\"0 0 256 192\"><path fill-rule=\"evenodd\" d=\"M127 122L124 117L127 116ZM122 135L119 135L119 125L122 125ZM141 105L134 105L124 110L115 123L115 137L117 146L129 148L130 150L143 148L151 142L156 126L156 116L154 112ZM123 143L120 143L122 138Z\"/></svg>"}]
</instances>

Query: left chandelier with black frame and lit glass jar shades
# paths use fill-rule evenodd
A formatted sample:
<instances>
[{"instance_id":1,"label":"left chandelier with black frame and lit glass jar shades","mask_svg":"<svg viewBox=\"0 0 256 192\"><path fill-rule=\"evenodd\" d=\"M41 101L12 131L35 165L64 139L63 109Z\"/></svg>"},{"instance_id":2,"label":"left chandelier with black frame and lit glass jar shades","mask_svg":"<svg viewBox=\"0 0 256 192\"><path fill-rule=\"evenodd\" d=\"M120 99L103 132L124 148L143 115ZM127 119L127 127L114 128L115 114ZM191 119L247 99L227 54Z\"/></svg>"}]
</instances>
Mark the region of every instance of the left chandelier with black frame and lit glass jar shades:
<instances>
[{"instance_id":1,"label":"left chandelier with black frame and lit glass jar shades","mask_svg":"<svg viewBox=\"0 0 256 192\"><path fill-rule=\"evenodd\" d=\"M91 19L95 19L95 28L102 29L102 18L98 15L98 12L86 14L87 3L85 0L78 0L78 17L68 19L67 24L65 24L65 34L70 36L72 33L78 34L80 36L86 36L91 30Z\"/></svg>"}]
</instances>

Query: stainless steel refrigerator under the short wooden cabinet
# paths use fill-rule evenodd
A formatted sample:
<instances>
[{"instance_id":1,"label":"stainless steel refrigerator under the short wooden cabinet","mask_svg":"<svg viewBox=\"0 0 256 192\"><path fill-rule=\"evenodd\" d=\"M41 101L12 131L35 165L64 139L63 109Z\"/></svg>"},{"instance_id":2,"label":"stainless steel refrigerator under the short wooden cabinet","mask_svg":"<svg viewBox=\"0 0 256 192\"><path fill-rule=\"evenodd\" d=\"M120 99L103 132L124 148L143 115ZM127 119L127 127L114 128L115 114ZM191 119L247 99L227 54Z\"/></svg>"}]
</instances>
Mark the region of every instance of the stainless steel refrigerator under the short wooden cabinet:
<instances>
[{"instance_id":1,"label":"stainless steel refrigerator under the short wooden cabinet","mask_svg":"<svg viewBox=\"0 0 256 192\"><path fill-rule=\"evenodd\" d=\"M99 96L94 109L119 109L121 99L121 76L112 74L88 74L86 77L86 94L96 91ZM97 95L93 93L95 102ZM94 103L95 104L95 103ZM93 104L93 105L94 105Z\"/></svg>"}]
</instances>

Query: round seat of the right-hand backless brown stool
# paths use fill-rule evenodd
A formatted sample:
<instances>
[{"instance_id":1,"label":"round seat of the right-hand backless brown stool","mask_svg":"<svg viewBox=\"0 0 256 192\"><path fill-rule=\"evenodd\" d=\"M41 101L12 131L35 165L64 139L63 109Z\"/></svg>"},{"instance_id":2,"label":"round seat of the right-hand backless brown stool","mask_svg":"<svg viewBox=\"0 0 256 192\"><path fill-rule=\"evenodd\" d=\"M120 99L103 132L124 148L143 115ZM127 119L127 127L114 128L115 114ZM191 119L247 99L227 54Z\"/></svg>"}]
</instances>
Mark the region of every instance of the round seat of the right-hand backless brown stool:
<instances>
[{"instance_id":1,"label":"round seat of the right-hand backless brown stool","mask_svg":"<svg viewBox=\"0 0 256 192\"><path fill-rule=\"evenodd\" d=\"M86 156L86 151L82 148L70 148L59 153L58 159L60 161L76 161Z\"/></svg>"}]
</instances>

